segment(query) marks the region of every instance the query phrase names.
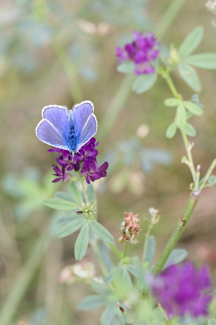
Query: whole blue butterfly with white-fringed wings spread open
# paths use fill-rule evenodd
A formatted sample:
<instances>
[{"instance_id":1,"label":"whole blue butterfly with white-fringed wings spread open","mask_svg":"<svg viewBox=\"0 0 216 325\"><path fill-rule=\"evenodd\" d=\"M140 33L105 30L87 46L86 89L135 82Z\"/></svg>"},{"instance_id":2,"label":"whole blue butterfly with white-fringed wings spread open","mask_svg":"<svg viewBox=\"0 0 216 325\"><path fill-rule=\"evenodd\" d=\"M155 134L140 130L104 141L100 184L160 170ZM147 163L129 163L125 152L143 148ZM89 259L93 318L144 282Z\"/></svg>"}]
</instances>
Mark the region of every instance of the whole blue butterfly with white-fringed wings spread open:
<instances>
[{"instance_id":1,"label":"whole blue butterfly with white-fringed wings spread open","mask_svg":"<svg viewBox=\"0 0 216 325\"><path fill-rule=\"evenodd\" d=\"M90 100L66 106L48 105L42 109L42 120L36 127L39 140L56 148L69 150L74 155L97 132L94 105Z\"/></svg>"}]
</instances>

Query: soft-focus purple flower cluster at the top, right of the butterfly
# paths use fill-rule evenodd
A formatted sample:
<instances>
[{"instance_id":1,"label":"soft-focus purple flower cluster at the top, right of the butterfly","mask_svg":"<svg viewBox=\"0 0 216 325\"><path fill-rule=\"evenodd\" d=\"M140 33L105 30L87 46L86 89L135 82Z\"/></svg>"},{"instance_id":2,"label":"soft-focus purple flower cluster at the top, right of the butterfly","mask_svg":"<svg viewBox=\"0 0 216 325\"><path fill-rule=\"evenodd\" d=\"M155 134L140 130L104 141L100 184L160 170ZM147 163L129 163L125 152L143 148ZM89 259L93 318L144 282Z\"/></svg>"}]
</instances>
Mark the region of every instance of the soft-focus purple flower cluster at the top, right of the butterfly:
<instances>
[{"instance_id":1,"label":"soft-focus purple flower cluster at the top, right of the butterfly","mask_svg":"<svg viewBox=\"0 0 216 325\"><path fill-rule=\"evenodd\" d=\"M155 68L151 65L151 62L155 60L159 54L157 46L160 45L156 42L156 38L153 33L147 32L142 34L136 31L133 32L135 40L132 43L126 44L124 49L121 47L116 48L116 55L119 58L119 62L124 60L134 61L135 74L142 73L154 73Z\"/></svg>"}]
</instances>

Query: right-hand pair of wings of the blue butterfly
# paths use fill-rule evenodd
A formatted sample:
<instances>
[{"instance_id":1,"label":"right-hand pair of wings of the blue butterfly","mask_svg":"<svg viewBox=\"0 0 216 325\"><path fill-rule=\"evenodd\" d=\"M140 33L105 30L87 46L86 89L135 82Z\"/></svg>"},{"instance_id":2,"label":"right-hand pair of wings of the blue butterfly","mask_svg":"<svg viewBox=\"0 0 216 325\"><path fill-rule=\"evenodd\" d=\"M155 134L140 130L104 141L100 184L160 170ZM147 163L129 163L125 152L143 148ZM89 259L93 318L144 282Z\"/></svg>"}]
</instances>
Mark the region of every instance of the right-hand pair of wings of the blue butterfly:
<instances>
[{"instance_id":1,"label":"right-hand pair of wings of the blue butterfly","mask_svg":"<svg viewBox=\"0 0 216 325\"><path fill-rule=\"evenodd\" d=\"M74 127L78 135L77 150L79 150L97 132L97 119L94 115L94 105L90 100L76 104L72 111Z\"/></svg>"}]
</instances>

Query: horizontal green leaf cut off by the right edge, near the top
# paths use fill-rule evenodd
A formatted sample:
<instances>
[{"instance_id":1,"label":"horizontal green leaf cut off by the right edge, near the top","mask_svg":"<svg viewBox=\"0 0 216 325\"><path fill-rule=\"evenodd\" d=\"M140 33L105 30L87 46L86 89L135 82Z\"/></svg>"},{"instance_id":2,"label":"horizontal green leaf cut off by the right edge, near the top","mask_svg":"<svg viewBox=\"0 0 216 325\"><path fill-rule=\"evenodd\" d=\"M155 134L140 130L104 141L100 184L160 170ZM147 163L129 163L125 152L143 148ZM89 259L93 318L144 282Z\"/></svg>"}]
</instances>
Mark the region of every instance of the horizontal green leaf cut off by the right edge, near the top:
<instances>
[{"instance_id":1,"label":"horizontal green leaf cut off by the right edge, near the top","mask_svg":"<svg viewBox=\"0 0 216 325\"><path fill-rule=\"evenodd\" d=\"M202 69L216 69L216 53L200 53L189 56L185 62Z\"/></svg>"}]
</instances>

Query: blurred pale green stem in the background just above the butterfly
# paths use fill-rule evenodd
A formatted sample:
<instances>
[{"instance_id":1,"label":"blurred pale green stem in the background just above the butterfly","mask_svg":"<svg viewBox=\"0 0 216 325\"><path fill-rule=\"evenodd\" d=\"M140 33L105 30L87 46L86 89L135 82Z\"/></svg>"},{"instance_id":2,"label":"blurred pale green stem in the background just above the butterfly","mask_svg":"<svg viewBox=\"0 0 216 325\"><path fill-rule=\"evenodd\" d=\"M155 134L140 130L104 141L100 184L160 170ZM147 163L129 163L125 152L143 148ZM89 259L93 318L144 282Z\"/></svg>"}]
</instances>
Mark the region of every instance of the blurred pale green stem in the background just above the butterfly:
<instances>
[{"instance_id":1,"label":"blurred pale green stem in the background just above the butterfly","mask_svg":"<svg viewBox=\"0 0 216 325\"><path fill-rule=\"evenodd\" d=\"M80 103L83 99L82 90L78 84L78 74L75 65L73 64L71 58L69 57L67 51L65 50L62 43L57 40L52 40L52 48L57 54L60 62L63 65L64 71L68 76L68 81L70 84L71 97L74 100L74 103Z\"/></svg>"}]
</instances>

